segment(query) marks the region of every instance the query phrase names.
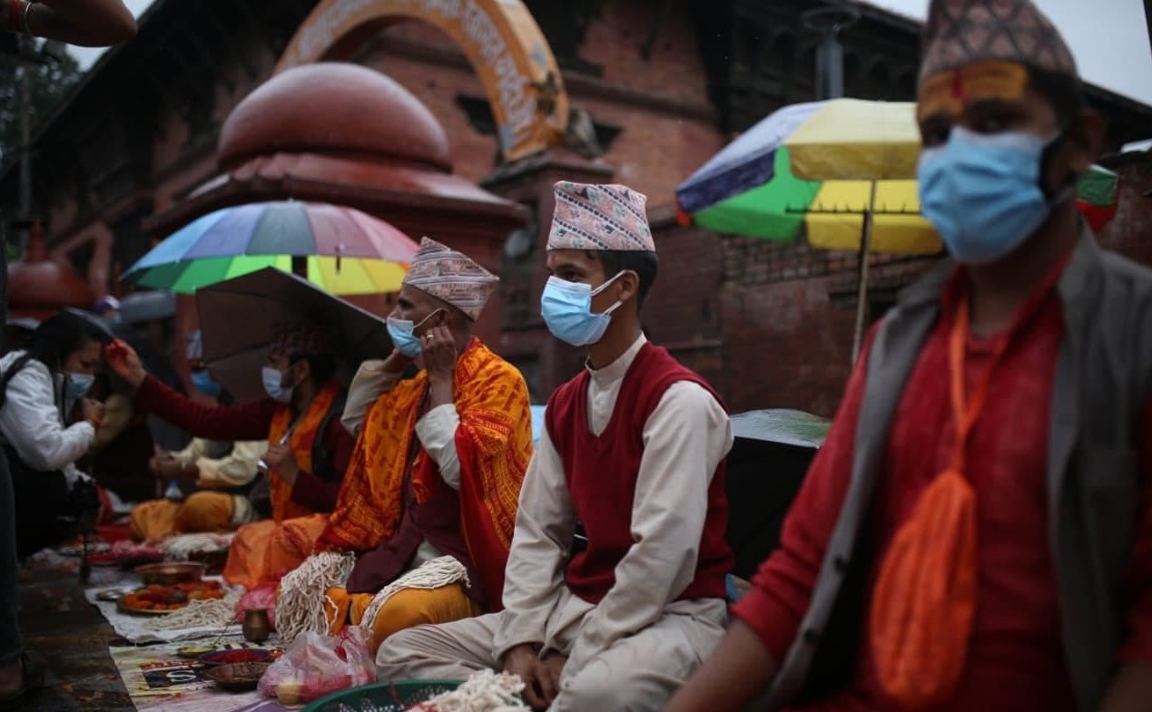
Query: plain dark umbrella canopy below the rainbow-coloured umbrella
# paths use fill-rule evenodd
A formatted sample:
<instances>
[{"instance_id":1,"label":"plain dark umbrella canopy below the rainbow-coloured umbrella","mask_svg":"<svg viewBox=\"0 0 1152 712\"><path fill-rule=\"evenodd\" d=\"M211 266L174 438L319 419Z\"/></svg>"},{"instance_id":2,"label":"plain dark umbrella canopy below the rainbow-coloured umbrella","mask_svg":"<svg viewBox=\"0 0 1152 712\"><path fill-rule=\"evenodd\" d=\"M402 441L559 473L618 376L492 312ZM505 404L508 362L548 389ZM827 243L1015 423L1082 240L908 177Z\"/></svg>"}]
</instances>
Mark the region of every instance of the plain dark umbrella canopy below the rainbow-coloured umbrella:
<instances>
[{"instance_id":1,"label":"plain dark umbrella canopy below the rainbow-coloured umbrella","mask_svg":"<svg viewBox=\"0 0 1152 712\"><path fill-rule=\"evenodd\" d=\"M205 366L241 403L266 397L260 367L281 322L326 324L343 377L354 374L362 361L392 353L384 319L278 269L265 268L206 286L197 292L196 303Z\"/></svg>"}]
</instances>

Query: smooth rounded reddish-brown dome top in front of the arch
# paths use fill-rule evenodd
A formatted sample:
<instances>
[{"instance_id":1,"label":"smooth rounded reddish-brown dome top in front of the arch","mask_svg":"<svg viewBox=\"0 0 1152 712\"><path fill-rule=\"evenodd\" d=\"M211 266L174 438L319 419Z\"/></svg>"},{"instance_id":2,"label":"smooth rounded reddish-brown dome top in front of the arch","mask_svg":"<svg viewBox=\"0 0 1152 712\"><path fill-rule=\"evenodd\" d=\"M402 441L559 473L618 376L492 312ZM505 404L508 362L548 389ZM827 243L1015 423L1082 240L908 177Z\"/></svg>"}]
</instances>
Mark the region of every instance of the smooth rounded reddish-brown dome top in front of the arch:
<instances>
[{"instance_id":1,"label":"smooth rounded reddish-brown dome top in front of the arch","mask_svg":"<svg viewBox=\"0 0 1152 712\"><path fill-rule=\"evenodd\" d=\"M452 170L448 136L432 112L388 76L359 64L287 69L244 98L225 121L225 169L275 153L369 154Z\"/></svg>"}]
</instances>

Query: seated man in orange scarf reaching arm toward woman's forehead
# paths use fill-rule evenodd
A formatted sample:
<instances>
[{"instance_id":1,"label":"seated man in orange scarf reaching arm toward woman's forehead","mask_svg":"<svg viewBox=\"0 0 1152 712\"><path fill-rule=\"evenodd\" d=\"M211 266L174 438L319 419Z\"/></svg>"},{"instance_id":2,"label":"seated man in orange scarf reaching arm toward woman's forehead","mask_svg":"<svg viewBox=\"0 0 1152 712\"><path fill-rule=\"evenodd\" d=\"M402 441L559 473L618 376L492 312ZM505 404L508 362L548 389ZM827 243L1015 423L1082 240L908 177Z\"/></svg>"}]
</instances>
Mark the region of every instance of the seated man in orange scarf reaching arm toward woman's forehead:
<instances>
[{"instance_id":1,"label":"seated man in orange scarf reaching arm toward woman's forehead","mask_svg":"<svg viewBox=\"0 0 1152 712\"><path fill-rule=\"evenodd\" d=\"M203 406L145 374L124 344L109 347L109 366L136 388L136 407L197 437L264 439L267 474L249 492L252 510L240 498L200 492L206 511L227 511L244 523L228 552L223 576L248 588L295 568L323 531L340 491L354 445L340 422L344 391L333 376L335 359L326 330L312 322L280 324L264 366L268 397L240 406ZM271 520L252 521L267 518Z\"/></svg>"}]
</instances>

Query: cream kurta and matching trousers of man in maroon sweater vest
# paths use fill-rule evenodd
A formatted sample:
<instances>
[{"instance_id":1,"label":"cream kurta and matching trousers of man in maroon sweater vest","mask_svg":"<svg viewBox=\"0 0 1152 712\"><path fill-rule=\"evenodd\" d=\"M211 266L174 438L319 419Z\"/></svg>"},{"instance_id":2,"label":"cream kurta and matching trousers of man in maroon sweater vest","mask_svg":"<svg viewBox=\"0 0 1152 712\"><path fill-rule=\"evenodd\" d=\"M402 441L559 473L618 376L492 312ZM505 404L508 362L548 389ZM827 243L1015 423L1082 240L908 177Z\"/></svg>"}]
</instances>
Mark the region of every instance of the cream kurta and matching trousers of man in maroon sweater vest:
<instances>
[{"instance_id":1,"label":"cream kurta and matching trousers of man in maroon sweater vest","mask_svg":"<svg viewBox=\"0 0 1152 712\"><path fill-rule=\"evenodd\" d=\"M591 370L589 427L599 435L616 407L641 336L614 363ZM576 513L560 455L545 431L521 490L506 569L505 611L397 634L377 656L381 679L461 677L500 667L528 643L568 656L553 710L657 710L719 643L722 599L676 600L696 573L707 490L732 447L727 413L705 389L673 384L644 426L632 503L636 542L598 604L563 583Z\"/></svg>"}]
</instances>

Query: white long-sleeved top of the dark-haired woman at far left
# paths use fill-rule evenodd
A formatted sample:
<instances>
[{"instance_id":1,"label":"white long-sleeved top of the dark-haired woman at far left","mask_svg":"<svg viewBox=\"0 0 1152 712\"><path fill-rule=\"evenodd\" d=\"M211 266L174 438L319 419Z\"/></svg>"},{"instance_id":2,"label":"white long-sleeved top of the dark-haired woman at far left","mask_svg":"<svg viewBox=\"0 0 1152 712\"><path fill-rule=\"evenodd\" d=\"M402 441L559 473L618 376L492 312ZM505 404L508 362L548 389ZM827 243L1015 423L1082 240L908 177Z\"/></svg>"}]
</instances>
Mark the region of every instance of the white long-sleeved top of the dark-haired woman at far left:
<instances>
[{"instance_id":1,"label":"white long-sleeved top of the dark-haired woman at far left","mask_svg":"<svg viewBox=\"0 0 1152 712\"><path fill-rule=\"evenodd\" d=\"M23 353L14 351L0 359L0 374L7 373ZM13 376L0 408L0 436L32 469L61 470L73 483L86 477L75 462L88 452L96 429L88 422L65 427L56 400L58 378L36 360Z\"/></svg>"}]
</instances>

